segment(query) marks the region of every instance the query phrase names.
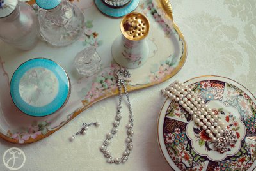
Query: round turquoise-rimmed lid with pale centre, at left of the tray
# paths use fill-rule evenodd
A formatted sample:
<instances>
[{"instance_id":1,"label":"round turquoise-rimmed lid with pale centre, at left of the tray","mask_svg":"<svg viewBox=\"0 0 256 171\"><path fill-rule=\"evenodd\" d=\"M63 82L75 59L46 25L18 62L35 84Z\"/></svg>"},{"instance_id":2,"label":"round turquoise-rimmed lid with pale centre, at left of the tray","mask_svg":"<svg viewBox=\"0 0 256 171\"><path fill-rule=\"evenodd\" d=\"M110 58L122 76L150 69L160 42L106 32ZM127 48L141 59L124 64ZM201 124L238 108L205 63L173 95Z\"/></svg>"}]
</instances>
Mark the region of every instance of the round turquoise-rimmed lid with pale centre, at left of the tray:
<instances>
[{"instance_id":1,"label":"round turquoise-rimmed lid with pale centre, at left of the tray","mask_svg":"<svg viewBox=\"0 0 256 171\"><path fill-rule=\"evenodd\" d=\"M35 58L21 64L13 73L10 93L22 112L43 117L54 114L67 103L70 80L59 64Z\"/></svg>"}]
</instances>

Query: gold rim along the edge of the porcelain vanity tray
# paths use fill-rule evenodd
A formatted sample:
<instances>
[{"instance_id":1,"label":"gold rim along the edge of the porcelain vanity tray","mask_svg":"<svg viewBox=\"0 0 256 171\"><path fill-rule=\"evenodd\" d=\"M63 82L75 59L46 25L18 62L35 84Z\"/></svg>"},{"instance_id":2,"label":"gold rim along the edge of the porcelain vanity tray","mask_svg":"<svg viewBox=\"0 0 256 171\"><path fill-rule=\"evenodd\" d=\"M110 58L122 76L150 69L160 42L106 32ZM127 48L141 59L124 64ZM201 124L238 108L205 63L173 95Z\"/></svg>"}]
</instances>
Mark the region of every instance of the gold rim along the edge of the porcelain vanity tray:
<instances>
[{"instance_id":1,"label":"gold rim along the edge of the porcelain vanity tray","mask_svg":"<svg viewBox=\"0 0 256 171\"><path fill-rule=\"evenodd\" d=\"M166 75L163 78L163 80L157 80L156 82L151 82L150 84L140 85L138 87L133 87L131 85L127 85L127 90L128 91L134 91L134 90L138 90L138 89L143 89L145 87L150 87L152 85L160 84L161 82L164 82L164 81L172 78L176 73L178 73L180 71L180 69L182 68L182 66L184 66L184 63L186 61L186 57L187 57L186 41L185 41L185 38L184 38L183 34L181 33L179 27L173 22L172 6L171 6L170 2L168 0L155 0L155 1L156 1L156 3L159 4L159 6L161 6L161 8L163 8L163 10L166 12L166 15L168 16L168 18L170 20L172 20L173 28L175 29L175 31L177 31L177 33L179 34L180 40L182 40L183 43L184 43L184 48L183 48L182 56L180 57L179 64L173 69L172 73L170 73L170 75ZM35 0L27 1L26 3L28 3L30 5L33 5L35 3ZM30 143L37 142L38 140L42 140L43 138L48 137L49 135L51 135L55 131L59 130L62 126L67 124L69 121L74 119L74 117L76 117L77 115L81 114L81 112L83 112L87 108L91 107L93 104L97 103L100 100L104 100L104 99L106 99L108 97L115 96L116 94L118 94L118 90L117 89L114 92L106 93L105 96L103 96L103 97L97 98L95 101L93 101L93 103L86 103L85 100L82 101L83 107L79 108L79 110L76 110L74 112L74 114L72 115L72 117L70 117L65 123L62 123L60 127L56 128L55 130L48 131L45 135L38 135L38 137L36 137L35 139L29 138L29 140L26 140L23 144L30 144ZM13 138L7 137L6 135L3 135L3 133L0 133L0 138L3 138L4 140L6 140L8 142L12 142L14 144L20 144L19 140L15 140Z\"/></svg>"}]
</instances>

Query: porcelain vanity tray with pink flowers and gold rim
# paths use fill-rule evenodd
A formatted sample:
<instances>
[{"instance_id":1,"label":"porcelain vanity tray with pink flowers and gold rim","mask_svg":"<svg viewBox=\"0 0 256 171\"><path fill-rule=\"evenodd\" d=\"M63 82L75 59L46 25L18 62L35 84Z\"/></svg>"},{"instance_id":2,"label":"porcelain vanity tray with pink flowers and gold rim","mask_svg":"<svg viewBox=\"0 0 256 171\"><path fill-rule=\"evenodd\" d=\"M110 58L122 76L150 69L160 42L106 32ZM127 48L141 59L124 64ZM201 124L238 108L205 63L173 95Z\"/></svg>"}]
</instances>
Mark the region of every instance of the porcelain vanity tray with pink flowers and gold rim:
<instances>
[{"instance_id":1,"label":"porcelain vanity tray with pink flowers and gold rim","mask_svg":"<svg viewBox=\"0 0 256 171\"><path fill-rule=\"evenodd\" d=\"M120 32L120 20L102 15L92 0L74 1L84 12L84 34L67 47L51 47L40 41L35 49L23 52L0 41L0 137L16 144L28 144L45 138L81 114L97 101L118 93L113 70L119 66L111 56L111 45ZM33 2L29 2L33 4ZM133 91L159 84L173 77L186 61L186 42L173 23L172 8L167 0L143 0L136 9L147 15L151 30L148 35L150 57L147 63L129 70L128 89ZM102 69L92 77L79 76L73 62L77 52L93 45L102 59ZM31 117L20 112L10 97L10 78L20 64L45 57L60 64L71 81L68 103L56 114Z\"/></svg>"}]
</instances>

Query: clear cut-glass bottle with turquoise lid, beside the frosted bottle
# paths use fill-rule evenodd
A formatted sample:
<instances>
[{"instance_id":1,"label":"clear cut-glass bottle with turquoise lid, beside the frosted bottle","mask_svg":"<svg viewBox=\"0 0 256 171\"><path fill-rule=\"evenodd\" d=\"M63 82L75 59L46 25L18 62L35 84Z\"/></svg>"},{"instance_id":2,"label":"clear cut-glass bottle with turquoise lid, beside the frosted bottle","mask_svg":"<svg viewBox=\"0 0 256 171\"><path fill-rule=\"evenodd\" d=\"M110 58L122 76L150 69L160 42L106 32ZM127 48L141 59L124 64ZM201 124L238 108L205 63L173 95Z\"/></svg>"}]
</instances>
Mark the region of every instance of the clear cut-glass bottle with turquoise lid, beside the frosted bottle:
<instances>
[{"instance_id":1,"label":"clear cut-glass bottle with turquoise lid, beside the frosted bottle","mask_svg":"<svg viewBox=\"0 0 256 171\"><path fill-rule=\"evenodd\" d=\"M67 0L36 0L42 38L52 45L65 46L76 41L84 29L82 11Z\"/></svg>"}]
</instances>

